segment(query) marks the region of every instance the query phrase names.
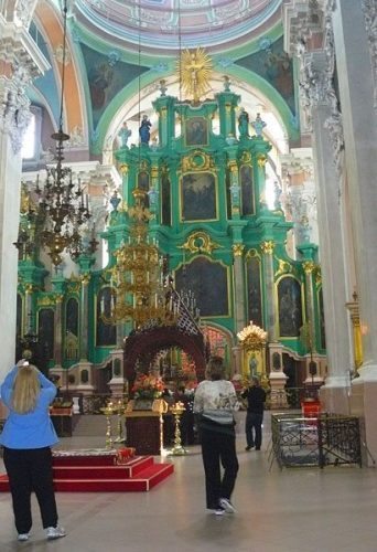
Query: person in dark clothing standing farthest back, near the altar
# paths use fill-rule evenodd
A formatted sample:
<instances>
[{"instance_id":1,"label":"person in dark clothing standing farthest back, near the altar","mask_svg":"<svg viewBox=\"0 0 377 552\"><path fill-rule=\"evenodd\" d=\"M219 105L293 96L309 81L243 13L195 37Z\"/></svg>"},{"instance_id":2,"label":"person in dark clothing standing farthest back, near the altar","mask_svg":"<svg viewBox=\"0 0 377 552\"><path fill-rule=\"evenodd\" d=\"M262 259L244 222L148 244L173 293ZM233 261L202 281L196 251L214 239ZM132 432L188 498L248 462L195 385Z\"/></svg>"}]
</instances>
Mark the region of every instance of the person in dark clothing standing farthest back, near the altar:
<instances>
[{"instance_id":1,"label":"person in dark clothing standing farthest back, near the altar","mask_svg":"<svg viewBox=\"0 0 377 552\"><path fill-rule=\"evenodd\" d=\"M246 414L246 450L260 450L262 442L262 422L266 402L266 391L260 386L259 378L251 378L252 384L241 393L241 397L247 400Z\"/></svg>"}]
</instances>

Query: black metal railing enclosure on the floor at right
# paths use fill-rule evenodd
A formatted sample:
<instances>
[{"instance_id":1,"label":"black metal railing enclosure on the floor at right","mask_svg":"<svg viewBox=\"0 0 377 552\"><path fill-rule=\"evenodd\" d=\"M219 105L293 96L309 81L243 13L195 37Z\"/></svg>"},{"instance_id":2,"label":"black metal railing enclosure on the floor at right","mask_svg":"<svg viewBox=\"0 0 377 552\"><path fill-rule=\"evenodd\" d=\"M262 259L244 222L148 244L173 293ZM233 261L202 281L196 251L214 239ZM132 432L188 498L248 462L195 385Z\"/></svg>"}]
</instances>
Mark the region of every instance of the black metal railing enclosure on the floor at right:
<instances>
[{"instance_id":1,"label":"black metal railing enclosure on the floor at right","mask_svg":"<svg viewBox=\"0 0 377 552\"><path fill-rule=\"evenodd\" d=\"M273 459L283 467L362 466L359 420L323 413L303 417L271 414L270 468Z\"/></svg>"}]
</instances>

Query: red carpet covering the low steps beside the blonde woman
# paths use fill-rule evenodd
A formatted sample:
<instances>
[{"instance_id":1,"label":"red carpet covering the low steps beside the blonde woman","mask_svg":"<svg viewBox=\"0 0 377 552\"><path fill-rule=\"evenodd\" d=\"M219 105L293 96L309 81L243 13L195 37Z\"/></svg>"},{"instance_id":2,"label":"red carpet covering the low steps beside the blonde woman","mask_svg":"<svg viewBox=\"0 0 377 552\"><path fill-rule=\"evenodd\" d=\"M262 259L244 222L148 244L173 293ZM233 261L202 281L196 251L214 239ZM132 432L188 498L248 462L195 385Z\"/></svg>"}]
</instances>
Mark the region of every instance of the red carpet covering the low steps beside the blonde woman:
<instances>
[{"instance_id":1,"label":"red carpet covering the low steps beside the blonde woman","mask_svg":"<svg viewBox=\"0 0 377 552\"><path fill-rule=\"evenodd\" d=\"M153 456L133 456L119 464L116 452L57 450L54 453L56 491L148 491L174 471L173 464L157 464ZM0 475L0 492L9 491L8 477Z\"/></svg>"}]
</instances>

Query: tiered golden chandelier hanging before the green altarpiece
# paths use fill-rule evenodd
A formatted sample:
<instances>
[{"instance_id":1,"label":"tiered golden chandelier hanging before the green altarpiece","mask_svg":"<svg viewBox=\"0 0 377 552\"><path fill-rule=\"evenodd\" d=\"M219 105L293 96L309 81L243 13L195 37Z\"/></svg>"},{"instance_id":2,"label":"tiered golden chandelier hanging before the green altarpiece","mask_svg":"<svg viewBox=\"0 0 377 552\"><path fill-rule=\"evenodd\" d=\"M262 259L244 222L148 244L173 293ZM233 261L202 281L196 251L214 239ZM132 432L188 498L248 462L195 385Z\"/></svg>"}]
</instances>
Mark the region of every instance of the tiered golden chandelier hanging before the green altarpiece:
<instances>
[{"instance_id":1,"label":"tiered golden chandelier hanging before the green altarpiece","mask_svg":"<svg viewBox=\"0 0 377 552\"><path fill-rule=\"evenodd\" d=\"M172 326L179 317L179 305L169 278L164 278L158 243L148 235L151 214L144 206L146 192L137 188L132 194L130 235L115 252L117 262L111 269L111 312L101 312L101 318L105 323L131 320L137 329Z\"/></svg>"}]
</instances>

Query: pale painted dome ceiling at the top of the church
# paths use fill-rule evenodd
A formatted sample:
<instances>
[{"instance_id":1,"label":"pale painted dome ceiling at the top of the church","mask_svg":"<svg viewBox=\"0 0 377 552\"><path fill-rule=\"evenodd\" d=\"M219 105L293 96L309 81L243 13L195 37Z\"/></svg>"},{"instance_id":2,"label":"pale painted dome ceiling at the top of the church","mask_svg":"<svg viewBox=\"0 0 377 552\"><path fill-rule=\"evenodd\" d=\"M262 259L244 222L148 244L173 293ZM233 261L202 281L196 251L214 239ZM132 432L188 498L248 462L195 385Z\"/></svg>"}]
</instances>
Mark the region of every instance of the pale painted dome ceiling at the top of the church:
<instances>
[{"instance_id":1,"label":"pale painted dome ceiling at the top of the church","mask_svg":"<svg viewBox=\"0 0 377 552\"><path fill-rule=\"evenodd\" d=\"M281 0L77 0L79 25L118 46L155 53L250 42L274 25Z\"/></svg>"}]
</instances>

